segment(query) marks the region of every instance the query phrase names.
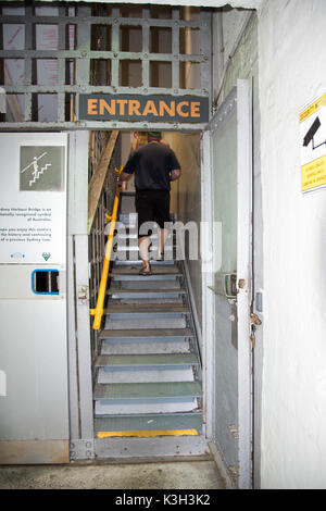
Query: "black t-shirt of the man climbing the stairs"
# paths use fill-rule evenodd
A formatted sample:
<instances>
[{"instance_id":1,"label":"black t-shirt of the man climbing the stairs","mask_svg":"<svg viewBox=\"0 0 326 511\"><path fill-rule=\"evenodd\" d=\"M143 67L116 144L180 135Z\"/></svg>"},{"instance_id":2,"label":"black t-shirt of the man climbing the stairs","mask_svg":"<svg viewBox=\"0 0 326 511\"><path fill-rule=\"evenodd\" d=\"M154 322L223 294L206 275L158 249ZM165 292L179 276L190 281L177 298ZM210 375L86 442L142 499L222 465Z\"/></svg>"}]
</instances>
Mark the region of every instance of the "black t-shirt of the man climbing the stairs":
<instances>
[{"instance_id":1,"label":"black t-shirt of the man climbing the stairs","mask_svg":"<svg viewBox=\"0 0 326 511\"><path fill-rule=\"evenodd\" d=\"M180 169L173 152L160 142L140 147L128 159L124 172L135 172L136 190L170 190L170 172Z\"/></svg>"}]
</instances>

